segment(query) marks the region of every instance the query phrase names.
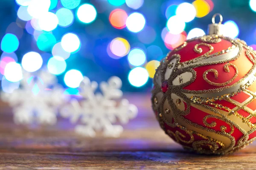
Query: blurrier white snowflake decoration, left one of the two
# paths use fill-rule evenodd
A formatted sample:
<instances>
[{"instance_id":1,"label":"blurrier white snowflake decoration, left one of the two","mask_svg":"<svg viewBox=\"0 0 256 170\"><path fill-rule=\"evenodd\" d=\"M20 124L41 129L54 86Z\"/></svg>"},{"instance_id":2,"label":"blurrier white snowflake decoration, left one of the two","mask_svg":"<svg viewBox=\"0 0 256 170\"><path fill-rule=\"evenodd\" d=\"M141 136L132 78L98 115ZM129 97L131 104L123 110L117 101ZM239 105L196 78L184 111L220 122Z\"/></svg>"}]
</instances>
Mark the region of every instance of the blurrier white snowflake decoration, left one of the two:
<instances>
[{"instance_id":1,"label":"blurrier white snowflake decoration, left one of the two","mask_svg":"<svg viewBox=\"0 0 256 170\"><path fill-rule=\"evenodd\" d=\"M2 99L13 107L15 123L55 124L57 108L64 102L63 88L56 83L55 75L48 71L36 75L23 71L20 88L2 93Z\"/></svg>"}]
</instances>

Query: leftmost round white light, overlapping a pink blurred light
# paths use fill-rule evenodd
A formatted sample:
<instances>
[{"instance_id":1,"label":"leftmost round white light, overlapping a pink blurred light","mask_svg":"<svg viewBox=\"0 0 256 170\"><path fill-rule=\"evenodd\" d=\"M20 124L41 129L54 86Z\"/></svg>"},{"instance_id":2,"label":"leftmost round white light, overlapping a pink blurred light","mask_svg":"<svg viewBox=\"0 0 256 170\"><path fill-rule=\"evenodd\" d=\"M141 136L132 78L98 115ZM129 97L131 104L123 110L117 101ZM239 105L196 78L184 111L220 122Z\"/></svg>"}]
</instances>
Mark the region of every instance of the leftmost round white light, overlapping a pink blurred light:
<instances>
[{"instance_id":1,"label":"leftmost round white light, overlapping a pink blurred light","mask_svg":"<svg viewBox=\"0 0 256 170\"><path fill-rule=\"evenodd\" d=\"M4 76L9 82L18 82L22 79L22 68L17 62L9 62L4 69Z\"/></svg>"}]
</instances>

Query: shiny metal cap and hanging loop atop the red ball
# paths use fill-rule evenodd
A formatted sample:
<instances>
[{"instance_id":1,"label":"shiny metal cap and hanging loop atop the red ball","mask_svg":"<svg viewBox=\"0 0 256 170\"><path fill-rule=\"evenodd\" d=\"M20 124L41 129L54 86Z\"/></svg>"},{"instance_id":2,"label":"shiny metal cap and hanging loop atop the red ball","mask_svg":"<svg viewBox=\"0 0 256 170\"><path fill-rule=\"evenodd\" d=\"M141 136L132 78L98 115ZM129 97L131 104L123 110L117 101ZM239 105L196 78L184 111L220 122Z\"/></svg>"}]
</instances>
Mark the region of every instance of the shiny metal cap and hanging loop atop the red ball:
<instances>
[{"instance_id":1,"label":"shiny metal cap and hanging loop atop the red ball","mask_svg":"<svg viewBox=\"0 0 256 170\"><path fill-rule=\"evenodd\" d=\"M219 23L215 23L215 17L216 16L219 16L220 17L220 22ZM221 24L222 23L222 15L219 14L219 13L216 13L212 16L212 24L209 24L208 25L208 34L211 35L211 34L217 34L217 35L223 35L224 33L224 25Z\"/></svg>"}]
</instances>

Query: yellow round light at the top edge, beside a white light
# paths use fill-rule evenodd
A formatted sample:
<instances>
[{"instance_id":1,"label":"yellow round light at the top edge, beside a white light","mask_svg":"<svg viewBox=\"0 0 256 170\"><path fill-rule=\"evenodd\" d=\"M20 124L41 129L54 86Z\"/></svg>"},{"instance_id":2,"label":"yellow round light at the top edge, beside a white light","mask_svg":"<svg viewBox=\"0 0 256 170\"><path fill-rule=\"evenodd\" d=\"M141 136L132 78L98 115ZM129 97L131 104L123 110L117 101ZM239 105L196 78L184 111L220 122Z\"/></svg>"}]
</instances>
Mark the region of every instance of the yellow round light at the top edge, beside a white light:
<instances>
[{"instance_id":1,"label":"yellow round light at the top edge, beside a white light","mask_svg":"<svg viewBox=\"0 0 256 170\"><path fill-rule=\"evenodd\" d=\"M195 6L196 17L201 18L209 14L210 6L205 0L195 0L192 5Z\"/></svg>"}]
</instances>

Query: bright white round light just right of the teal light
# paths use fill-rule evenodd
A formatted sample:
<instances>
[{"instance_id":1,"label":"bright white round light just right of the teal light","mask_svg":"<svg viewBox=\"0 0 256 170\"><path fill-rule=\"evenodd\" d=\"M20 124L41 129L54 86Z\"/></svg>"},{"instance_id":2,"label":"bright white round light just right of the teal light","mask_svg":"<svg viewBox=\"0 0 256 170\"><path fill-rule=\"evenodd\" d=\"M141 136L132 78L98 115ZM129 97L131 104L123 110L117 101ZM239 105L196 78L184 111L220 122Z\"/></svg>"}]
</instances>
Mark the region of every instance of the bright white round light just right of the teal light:
<instances>
[{"instance_id":1,"label":"bright white round light just right of the teal light","mask_svg":"<svg viewBox=\"0 0 256 170\"><path fill-rule=\"evenodd\" d=\"M80 48L79 37L73 33L67 33L61 38L61 47L68 53L73 53Z\"/></svg>"}]
</instances>

